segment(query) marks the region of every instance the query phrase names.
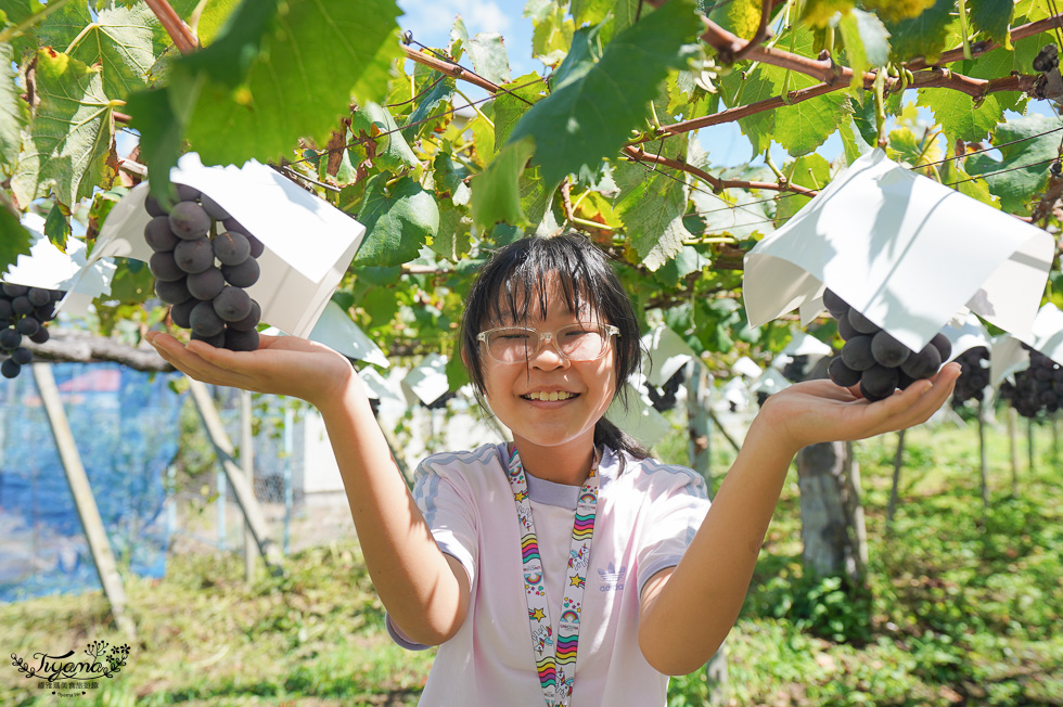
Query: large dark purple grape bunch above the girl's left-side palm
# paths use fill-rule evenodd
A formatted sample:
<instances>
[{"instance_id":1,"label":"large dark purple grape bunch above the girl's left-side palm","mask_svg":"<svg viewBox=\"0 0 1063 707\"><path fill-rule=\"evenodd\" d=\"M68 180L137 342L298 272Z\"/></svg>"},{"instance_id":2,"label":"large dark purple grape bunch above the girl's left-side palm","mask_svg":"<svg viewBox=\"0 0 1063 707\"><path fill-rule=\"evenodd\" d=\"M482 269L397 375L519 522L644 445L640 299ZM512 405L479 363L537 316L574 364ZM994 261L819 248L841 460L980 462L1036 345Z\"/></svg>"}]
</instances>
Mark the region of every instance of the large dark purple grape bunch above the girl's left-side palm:
<instances>
[{"instance_id":1,"label":"large dark purple grape bunch above the girl's left-side palm","mask_svg":"<svg viewBox=\"0 0 1063 707\"><path fill-rule=\"evenodd\" d=\"M206 194L175 184L179 202L166 210L151 195L144 241L155 295L192 338L232 351L258 348L262 310L245 287L258 282L265 246Z\"/></svg>"}]
</instances>

